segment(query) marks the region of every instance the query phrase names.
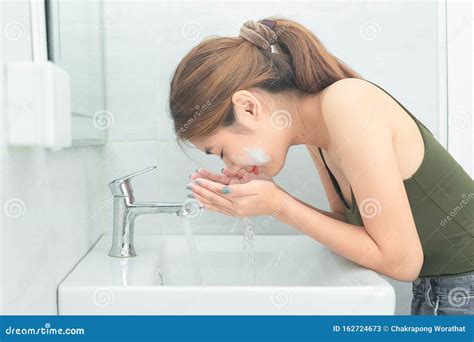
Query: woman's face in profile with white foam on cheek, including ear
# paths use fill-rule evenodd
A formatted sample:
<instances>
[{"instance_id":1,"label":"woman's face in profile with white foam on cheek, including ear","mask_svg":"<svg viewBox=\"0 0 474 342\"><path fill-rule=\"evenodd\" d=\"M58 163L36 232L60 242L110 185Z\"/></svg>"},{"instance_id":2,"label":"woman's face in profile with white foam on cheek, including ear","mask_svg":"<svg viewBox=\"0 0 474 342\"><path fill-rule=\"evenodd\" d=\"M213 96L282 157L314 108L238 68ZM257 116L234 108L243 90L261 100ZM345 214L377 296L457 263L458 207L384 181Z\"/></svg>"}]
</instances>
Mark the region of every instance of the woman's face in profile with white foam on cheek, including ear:
<instances>
[{"instance_id":1,"label":"woman's face in profile with white foam on cheek, including ear","mask_svg":"<svg viewBox=\"0 0 474 342\"><path fill-rule=\"evenodd\" d=\"M243 168L273 177L283 168L291 145L291 116L285 109L268 105L272 101L265 101L264 105L264 99L256 95L259 94L241 90L232 97L237 122L246 126L248 133L225 127L192 143L205 153L222 156L233 172Z\"/></svg>"}]
</instances>

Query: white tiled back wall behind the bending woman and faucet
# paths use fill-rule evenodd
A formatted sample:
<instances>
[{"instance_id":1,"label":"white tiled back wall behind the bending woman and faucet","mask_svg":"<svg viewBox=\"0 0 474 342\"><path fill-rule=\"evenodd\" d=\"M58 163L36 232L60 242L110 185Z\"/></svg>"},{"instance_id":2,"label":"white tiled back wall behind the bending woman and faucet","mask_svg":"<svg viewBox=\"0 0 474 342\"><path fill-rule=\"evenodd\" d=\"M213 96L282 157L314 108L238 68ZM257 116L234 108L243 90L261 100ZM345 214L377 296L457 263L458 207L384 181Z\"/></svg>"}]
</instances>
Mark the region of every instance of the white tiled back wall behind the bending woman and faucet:
<instances>
[{"instance_id":1,"label":"white tiled back wall behind the bending woman and faucet","mask_svg":"<svg viewBox=\"0 0 474 342\"><path fill-rule=\"evenodd\" d=\"M249 6L238 1L106 0L107 102L114 120L105 148L105 180L158 165L157 171L134 180L136 197L184 201L188 175L195 168L220 170L219 157L193 149L184 154L177 147L166 104L171 73L204 37L237 36L243 22L268 15L283 15L306 25L331 52L391 92L439 137L446 118L438 114L445 102L439 94L443 70L437 58L437 11L435 2L314 1L310 5L288 1ZM307 203L329 209L303 146L290 150L285 169L275 179ZM110 195L105 183L104 229L110 231ZM257 234L299 233L277 221L265 225L263 219L253 219ZM194 220L198 234L242 233L238 220L218 213L204 212ZM137 219L136 231L182 233L177 223L172 215L143 216ZM408 314L411 284L386 279L397 292L397 314Z\"/></svg>"}]
</instances>

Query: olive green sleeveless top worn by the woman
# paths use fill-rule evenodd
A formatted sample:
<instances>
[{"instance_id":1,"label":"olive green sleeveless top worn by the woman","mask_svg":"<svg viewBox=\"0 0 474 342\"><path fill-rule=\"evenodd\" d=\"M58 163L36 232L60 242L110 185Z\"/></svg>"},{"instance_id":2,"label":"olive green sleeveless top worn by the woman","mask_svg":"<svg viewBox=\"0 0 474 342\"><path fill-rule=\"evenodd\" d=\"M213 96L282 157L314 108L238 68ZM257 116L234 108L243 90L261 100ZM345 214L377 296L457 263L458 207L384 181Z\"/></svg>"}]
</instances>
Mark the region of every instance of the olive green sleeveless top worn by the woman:
<instances>
[{"instance_id":1,"label":"olive green sleeveless top worn by the woman","mask_svg":"<svg viewBox=\"0 0 474 342\"><path fill-rule=\"evenodd\" d=\"M403 181L423 249L424 261L419 277L474 271L472 178L410 111L383 88L370 83L387 93L413 118L423 137L425 152L422 163L410 178ZM344 206L347 221L363 226L352 187L350 207L345 203L320 148L319 153Z\"/></svg>"}]
</instances>

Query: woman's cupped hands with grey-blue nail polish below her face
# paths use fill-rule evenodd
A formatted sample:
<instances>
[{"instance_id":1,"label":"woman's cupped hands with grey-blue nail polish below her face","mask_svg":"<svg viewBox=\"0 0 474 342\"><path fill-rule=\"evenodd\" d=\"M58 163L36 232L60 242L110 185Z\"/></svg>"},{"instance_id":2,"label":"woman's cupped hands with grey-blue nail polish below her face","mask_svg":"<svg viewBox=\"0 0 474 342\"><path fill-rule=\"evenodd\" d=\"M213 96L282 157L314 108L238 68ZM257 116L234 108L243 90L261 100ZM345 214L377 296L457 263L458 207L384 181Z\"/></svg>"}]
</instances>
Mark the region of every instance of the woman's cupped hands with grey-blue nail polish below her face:
<instances>
[{"instance_id":1,"label":"woman's cupped hands with grey-blue nail polish below her face","mask_svg":"<svg viewBox=\"0 0 474 342\"><path fill-rule=\"evenodd\" d=\"M190 184L192 195L206 209L241 218L272 215L283 205L286 193L272 180L251 179L239 183L238 179L242 181L243 177L225 177L220 179L226 183L195 178L195 183Z\"/></svg>"}]
</instances>

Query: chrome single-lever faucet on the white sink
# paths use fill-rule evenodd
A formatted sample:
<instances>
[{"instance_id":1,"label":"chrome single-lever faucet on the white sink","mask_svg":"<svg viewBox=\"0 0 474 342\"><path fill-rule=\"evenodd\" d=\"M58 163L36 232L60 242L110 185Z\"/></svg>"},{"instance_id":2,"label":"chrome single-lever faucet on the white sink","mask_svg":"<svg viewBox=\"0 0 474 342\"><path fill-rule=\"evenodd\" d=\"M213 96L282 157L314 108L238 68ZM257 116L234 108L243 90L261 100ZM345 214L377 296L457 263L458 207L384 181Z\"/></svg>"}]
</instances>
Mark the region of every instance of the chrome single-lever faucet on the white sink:
<instances>
[{"instance_id":1,"label":"chrome single-lever faucet on the white sink","mask_svg":"<svg viewBox=\"0 0 474 342\"><path fill-rule=\"evenodd\" d=\"M114 230L109 256L126 258L137 255L133 246L134 224L137 216L159 213L176 213L178 216L187 215L189 208L186 208L186 203L189 203L188 201L183 203L135 202L132 184L130 183L131 178L154 169L156 169L156 166L148 167L109 183L110 191L112 191L114 197Z\"/></svg>"}]
</instances>

